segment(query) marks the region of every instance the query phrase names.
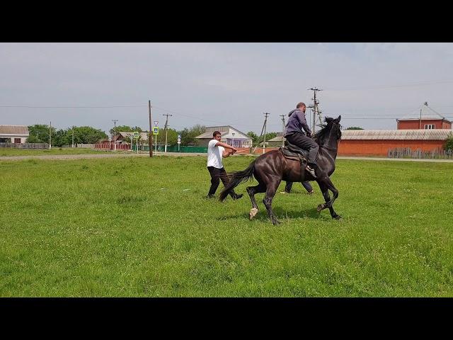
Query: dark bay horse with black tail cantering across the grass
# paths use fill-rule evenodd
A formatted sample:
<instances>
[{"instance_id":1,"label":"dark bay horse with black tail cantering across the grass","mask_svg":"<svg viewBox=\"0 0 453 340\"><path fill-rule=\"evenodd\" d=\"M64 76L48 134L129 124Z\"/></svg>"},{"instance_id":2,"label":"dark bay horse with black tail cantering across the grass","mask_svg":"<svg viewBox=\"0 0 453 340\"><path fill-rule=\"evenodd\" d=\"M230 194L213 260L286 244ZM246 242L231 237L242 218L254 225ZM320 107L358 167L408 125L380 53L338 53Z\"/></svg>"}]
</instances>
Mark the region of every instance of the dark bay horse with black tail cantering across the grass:
<instances>
[{"instance_id":1,"label":"dark bay horse with black tail cantering across the grass","mask_svg":"<svg viewBox=\"0 0 453 340\"><path fill-rule=\"evenodd\" d=\"M330 179L331 174L335 171L338 142L341 138L340 119L341 115L336 119L326 117L326 124L323 124L321 130L314 135L314 140L319 145L317 162L319 172L316 173L316 179L302 169L299 161L287 159L280 150L273 150L256 158L247 169L229 173L229 184L222 190L219 199L225 200L231 189L238 186L239 183L246 182L248 179L251 180L255 176L258 186L248 186L246 188L252 202L250 219L252 220L258 212L255 194L265 193L263 203L268 210L270 220L274 225L277 225L280 222L275 217L271 205L280 182L282 180L289 182L316 181L321 193L323 193L324 200L326 200L326 203L318 205L318 212L328 208L332 218L340 220L340 215L333 210L333 202L338 198L338 190ZM333 193L332 199L328 190Z\"/></svg>"}]
</instances>

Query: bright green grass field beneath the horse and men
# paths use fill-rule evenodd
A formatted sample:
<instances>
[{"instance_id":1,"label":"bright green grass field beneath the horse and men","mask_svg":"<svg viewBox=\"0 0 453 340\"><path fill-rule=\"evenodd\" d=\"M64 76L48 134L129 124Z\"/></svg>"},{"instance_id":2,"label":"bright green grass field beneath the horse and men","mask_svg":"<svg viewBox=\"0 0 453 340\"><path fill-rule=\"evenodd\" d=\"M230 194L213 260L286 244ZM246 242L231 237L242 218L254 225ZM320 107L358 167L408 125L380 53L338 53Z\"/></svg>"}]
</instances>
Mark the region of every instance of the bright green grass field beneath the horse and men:
<instances>
[{"instance_id":1,"label":"bright green grass field beneath the horse and men","mask_svg":"<svg viewBox=\"0 0 453 340\"><path fill-rule=\"evenodd\" d=\"M283 195L282 183L278 226L263 194L253 221L247 195L206 199L205 166L205 157L0 162L0 296L453 296L453 164L338 159L343 220L316 212L316 183L314 196L300 183Z\"/></svg>"}]
</instances>

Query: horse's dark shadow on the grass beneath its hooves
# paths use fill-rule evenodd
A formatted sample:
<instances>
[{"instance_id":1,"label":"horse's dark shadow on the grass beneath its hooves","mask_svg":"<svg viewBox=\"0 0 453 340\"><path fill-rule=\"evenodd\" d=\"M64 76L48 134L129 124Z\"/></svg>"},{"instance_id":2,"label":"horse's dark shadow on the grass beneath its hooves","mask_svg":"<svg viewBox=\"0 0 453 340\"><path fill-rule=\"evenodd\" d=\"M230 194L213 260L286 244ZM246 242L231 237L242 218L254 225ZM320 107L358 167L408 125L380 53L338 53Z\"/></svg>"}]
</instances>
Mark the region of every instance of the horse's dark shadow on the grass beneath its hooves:
<instances>
[{"instance_id":1,"label":"horse's dark shadow on the grass beneath its hooves","mask_svg":"<svg viewBox=\"0 0 453 340\"><path fill-rule=\"evenodd\" d=\"M323 212L318 212L316 208L310 208L305 210L287 210L285 208L276 207L273 209L274 214L280 220L280 222L284 220L292 220L296 218L314 218L316 220L331 220L331 215L327 213L327 215ZM243 218L247 217L248 219L248 211L247 212L240 212L235 213L232 215L225 215L220 218L220 220L234 220L236 218ZM258 220L260 222L270 222L268 211L266 208L260 208L258 210L258 214L253 217L253 220Z\"/></svg>"}]
</instances>

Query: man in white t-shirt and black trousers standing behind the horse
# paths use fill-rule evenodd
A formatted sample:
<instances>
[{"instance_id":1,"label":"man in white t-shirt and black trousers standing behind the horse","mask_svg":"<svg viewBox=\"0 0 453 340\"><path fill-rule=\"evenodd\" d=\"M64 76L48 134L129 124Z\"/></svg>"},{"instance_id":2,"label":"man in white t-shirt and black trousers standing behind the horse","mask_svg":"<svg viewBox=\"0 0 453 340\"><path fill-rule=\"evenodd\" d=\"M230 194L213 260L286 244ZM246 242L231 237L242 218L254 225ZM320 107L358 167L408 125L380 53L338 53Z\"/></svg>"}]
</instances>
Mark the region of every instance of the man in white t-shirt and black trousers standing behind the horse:
<instances>
[{"instance_id":1,"label":"man in white t-shirt and black trousers standing behind the horse","mask_svg":"<svg viewBox=\"0 0 453 340\"><path fill-rule=\"evenodd\" d=\"M220 136L221 134L219 131L214 131L214 133L212 133L213 140L210 140L207 145L207 170L210 171L211 175L211 187L210 192L207 193L207 198L214 197L214 193L219 187L220 179L222 179L224 186L229 183L224 165L222 164L222 157L229 157L230 154L234 154L234 152L238 151L236 148L220 142ZM234 200L237 200L242 197L242 194L238 195L232 190L230 196Z\"/></svg>"}]
</instances>

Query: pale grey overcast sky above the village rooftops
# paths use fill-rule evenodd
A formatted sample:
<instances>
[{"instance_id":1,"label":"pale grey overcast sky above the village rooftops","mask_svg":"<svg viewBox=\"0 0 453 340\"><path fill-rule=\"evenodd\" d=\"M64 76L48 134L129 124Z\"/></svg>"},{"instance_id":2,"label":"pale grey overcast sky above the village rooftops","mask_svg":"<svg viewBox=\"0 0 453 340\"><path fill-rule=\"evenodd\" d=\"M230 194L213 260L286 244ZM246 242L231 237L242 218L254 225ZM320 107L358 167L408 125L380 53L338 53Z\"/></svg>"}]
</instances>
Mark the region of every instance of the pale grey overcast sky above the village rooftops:
<instances>
[{"instance_id":1,"label":"pale grey overcast sky above the village rooftops","mask_svg":"<svg viewBox=\"0 0 453 340\"><path fill-rule=\"evenodd\" d=\"M0 125L231 125L282 131L299 101L343 129L395 130L428 106L453 120L453 43L0 42ZM310 109L306 110L311 118ZM153 124L154 125L154 124Z\"/></svg>"}]
</instances>

